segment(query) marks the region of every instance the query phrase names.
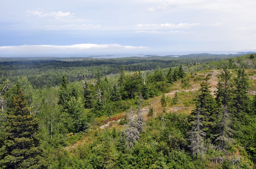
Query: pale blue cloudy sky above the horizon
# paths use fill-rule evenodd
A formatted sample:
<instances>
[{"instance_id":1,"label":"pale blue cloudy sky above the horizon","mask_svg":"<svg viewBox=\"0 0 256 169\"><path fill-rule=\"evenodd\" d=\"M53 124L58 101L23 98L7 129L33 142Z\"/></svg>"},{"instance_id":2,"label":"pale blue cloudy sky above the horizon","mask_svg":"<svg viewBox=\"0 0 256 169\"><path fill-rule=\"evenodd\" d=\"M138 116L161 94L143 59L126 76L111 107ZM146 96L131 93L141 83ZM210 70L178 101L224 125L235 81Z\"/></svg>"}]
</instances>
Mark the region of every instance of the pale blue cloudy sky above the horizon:
<instances>
[{"instance_id":1,"label":"pale blue cloudy sky above the horizon","mask_svg":"<svg viewBox=\"0 0 256 169\"><path fill-rule=\"evenodd\" d=\"M0 0L0 57L256 51L255 0Z\"/></svg>"}]
</instances>

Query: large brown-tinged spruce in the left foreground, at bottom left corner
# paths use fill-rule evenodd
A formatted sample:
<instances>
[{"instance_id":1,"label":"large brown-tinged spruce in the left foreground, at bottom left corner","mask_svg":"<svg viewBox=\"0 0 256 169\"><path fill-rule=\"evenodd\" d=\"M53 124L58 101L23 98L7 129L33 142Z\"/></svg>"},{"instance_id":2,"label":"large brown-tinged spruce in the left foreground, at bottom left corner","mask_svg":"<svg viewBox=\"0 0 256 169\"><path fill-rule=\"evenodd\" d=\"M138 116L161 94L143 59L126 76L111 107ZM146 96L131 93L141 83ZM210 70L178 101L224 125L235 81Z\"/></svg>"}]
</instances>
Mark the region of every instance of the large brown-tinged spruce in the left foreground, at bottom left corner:
<instances>
[{"instance_id":1,"label":"large brown-tinged spruce in the left foreground, at bottom left corner","mask_svg":"<svg viewBox=\"0 0 256 169\"><path fill-rule=\"evenodd\" d=\"M1 168L43 168L39 143L38 119L30 114L27 100L19 85L13 106L7 111L6 140L0 149Z\"/></svg>"}]
</instances>

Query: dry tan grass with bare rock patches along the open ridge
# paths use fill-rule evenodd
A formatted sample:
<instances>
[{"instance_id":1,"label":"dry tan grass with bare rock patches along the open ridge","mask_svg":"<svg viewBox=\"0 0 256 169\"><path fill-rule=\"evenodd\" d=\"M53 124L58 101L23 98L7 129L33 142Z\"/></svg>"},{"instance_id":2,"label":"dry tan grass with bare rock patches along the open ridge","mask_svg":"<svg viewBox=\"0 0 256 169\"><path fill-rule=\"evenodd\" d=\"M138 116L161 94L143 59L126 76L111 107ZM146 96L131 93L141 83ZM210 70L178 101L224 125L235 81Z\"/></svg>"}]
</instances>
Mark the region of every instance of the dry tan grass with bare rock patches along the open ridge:
<instances>
[{"instance_id":1,"label":"dry tan grass with bare rock patches along the open ridge","mask_svg":"<svg viewBox=\"0 0 256 169\"><path fill-rule=\"evenodd\" d=\"M194 81L194 79L198 76L204 78L206 74L211 73L212 76L210 77L210 90L212 91L212 95L214 94L214 91L217 90L216 86L219 81L218 75L221 73L221 70L211 70L211 71L204 71L199 72L194 75L188 74L187 77L189 77L190 86L187 88L181 88L181 80L174 82L174 84L170 87L170 92L165 94L167 106L165 107L166 113L184 113L186 115L189 115L193 109L195 109L195 101L196 96L199 94L198 89L200 88L200 81ZM231 70L232 76L235 77L236 71ZM235 72L235 73L233 73ZM249 90L256 90L256 71L255 70L248 70L246 72L247 74L250 74L251 78L249 78ZM255 77L255 79L254 79ZM175 92L178 93L178 102L177 104L172 104L172 99L175 95ZM158 115L164 115L164 108L161 106L160 103L161 96L150 98L148 100L145 100L142 103L143 107L143 114L145 117L145 120L150 120L152 118L155 118ZM149 107L153 108L153 115L147 116ZM121 113L122 115L128 114L127 112ZM112 130L114 127L116 127L117 130L123 130L124 127L122 125L118 125L117 122L112 123L112 125L106 127L108 130ZM98 126L93 128L88 135L84 136L82 140L78 141L77 143L73 144L72 146L69 146L66 148L68 151L77 149L79 145L83 146L84 144L90 144L95 140L95 132L102 132L103 130L99 129ZM209 163L207 168L219 168L219 165L216 163Z\"/></svg>"}]
</instances>

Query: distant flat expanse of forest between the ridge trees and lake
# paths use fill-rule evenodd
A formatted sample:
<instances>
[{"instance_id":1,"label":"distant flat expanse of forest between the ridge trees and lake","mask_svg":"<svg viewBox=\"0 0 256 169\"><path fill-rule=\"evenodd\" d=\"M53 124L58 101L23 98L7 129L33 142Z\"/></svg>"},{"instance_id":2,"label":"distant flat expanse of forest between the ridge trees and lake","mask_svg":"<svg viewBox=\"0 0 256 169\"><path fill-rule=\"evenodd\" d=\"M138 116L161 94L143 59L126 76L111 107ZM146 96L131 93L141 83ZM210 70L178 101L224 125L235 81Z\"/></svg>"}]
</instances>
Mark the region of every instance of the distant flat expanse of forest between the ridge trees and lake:
<instances>
[{"instance_id":1,"label":"distant flat expanse of forest between the ridge trees and lake","mask_svg":"<svg viewBox=\"0 0 256 169\"><path fill-rule=\"evenodd\" d=\"M201 62L221 60L231 55L212 55L210 57L127 57L115 59L83 59L75 60L20 60L0 62L0 82L6 78L10 81L17 81L17 77L27 76L32 86L54 87L61 81L62 74L65 74L68 81L80 81L83 78L93 79L96 77L97 69L102 76L116 75L121 65L126 71L156 70L160 68L178 67L180 64L192 67ZM207 56L208 56L207 55ZM194 55L193 55L194 56ZM204 69L204 66L198 68Z\"/></svg>"}]
</instances>

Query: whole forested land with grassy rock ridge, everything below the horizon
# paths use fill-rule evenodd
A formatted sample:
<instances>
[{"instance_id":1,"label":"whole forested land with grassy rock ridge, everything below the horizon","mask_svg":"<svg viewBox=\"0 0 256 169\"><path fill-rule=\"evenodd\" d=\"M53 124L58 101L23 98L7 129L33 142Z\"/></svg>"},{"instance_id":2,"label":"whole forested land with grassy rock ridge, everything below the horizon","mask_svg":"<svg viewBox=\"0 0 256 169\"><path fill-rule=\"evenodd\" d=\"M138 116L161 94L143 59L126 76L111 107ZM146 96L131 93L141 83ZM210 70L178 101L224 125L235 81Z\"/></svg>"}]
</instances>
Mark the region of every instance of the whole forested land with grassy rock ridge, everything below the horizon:
<instances>
[{"instance_id":1,"label":"whole forested land with grassy rock ridge, everything below the horizon","mask_svg":"<svg viewBox=\"0 0 256 169\"><path fill-rule=\"evenodd\" d=\"M0 168L255 168L256 54L0 62Z\"/></svg>"}]
</instances>

